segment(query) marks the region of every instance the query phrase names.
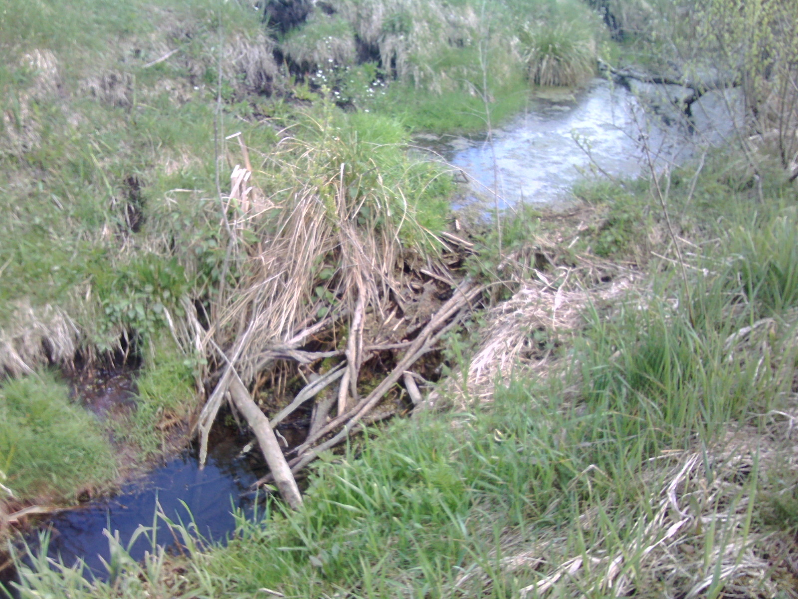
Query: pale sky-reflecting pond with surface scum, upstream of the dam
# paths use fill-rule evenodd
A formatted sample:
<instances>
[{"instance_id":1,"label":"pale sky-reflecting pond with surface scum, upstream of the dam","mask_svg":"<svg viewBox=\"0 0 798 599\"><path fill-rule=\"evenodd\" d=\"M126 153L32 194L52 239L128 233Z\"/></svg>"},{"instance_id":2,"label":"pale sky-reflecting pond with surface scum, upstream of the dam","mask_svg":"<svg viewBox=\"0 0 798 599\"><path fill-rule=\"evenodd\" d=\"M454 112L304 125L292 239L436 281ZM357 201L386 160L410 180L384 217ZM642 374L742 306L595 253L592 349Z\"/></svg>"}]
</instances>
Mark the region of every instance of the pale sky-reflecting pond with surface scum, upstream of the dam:
<instances>
[{"instance_id":1,"label":"pale sky-reflecting pond with surface scum, upstream of the dam","mask_svg":"<svg viewBox=\"0 0 798 599\"><path fill-rule=\"evenodd\" d=\"M545 90L492 137L437 140L432 147L468 180L470 195L461 205L476 202L490 210L523 202L556 208L571 200L571 188L582 177L646 173L642 141L654 169L722 143L733 133L732 114L740 111L736 90L706 93L693 105L695 131L689 132L668 103L685 89L638 84L633 91L602 79L576 93ZM644 104L654 105L654 114Z\"/></svg>"}]
</instances>

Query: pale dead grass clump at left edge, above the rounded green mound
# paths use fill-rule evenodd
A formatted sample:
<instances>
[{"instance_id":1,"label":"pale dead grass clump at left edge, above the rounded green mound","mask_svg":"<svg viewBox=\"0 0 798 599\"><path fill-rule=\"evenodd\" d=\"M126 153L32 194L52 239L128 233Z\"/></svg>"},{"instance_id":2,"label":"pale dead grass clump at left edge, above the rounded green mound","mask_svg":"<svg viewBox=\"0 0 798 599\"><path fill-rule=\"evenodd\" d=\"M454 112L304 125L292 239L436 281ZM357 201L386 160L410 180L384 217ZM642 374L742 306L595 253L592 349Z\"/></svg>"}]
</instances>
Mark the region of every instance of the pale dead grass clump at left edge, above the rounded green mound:
<instances>
[{"instance_id":1,"label":"pale dead grass clump at left edge, above the rounded green mound","mask_svg":"<svg viewBox=\"0 0 798 599\"><path fill-rule=\"evenodd\" d=\"M61 308L20 301L0 328L0 371L18 376L50 362L72 363L80 340L81 331Z\"/></svg>"}]
</instances>

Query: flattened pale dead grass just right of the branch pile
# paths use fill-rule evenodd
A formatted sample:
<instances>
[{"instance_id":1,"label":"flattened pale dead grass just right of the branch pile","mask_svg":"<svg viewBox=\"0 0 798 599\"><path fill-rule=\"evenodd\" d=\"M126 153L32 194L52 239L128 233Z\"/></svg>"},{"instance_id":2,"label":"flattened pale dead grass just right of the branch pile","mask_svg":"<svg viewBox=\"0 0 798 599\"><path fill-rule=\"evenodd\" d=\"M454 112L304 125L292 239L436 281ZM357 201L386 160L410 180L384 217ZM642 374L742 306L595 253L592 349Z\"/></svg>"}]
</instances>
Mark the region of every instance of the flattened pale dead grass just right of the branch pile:
<instances>
[{"instance_id":1,"label":"flattened pale dead grass just right of the branch pile","mask_svg":"<svg viewBox=\"0 0 798 599\"><path fill-rule=\"evenodd\" d=\"M534 263L542 261L548 269L528 268L522 263L530 260L520 254L505 256L501 276L513 280L518 291L488 311L468 372L452 375L430 394L426 407L448 401L465 407L474 399L490 403L495 384L515 373L547 375L561 357L558 348L583 328L587 307L608 305L635 288L635 271L617 263L589 255L557 257L558 248L572 245L596 214L595 208L577 208L547 217L547 230L536 234Z\"/></svg>"}]
</instances>

